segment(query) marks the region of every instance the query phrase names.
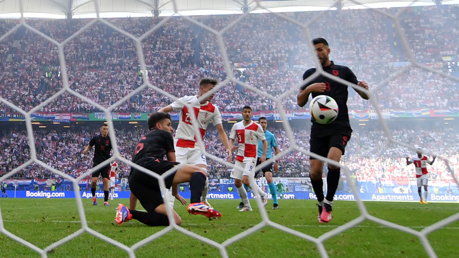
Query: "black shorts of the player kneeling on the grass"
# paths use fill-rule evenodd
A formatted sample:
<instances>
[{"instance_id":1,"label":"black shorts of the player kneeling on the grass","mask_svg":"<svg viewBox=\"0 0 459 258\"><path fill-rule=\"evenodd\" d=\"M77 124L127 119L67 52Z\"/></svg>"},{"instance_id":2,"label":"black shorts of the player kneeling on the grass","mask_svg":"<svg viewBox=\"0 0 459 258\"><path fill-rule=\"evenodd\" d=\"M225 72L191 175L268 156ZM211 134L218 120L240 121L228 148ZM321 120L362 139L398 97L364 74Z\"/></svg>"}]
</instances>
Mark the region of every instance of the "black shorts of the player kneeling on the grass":
<instances>
[{"instance_id":1,"label":"black shorts of the player kneeling on the grass","mask_svg":"<svg viewBox=\"0 0 459 258\"><path fill-rule=\"evenodd\" d=\"M179 163L156 162L152 159L151 161L142 162L139 165L155 172L158 175L162 175L177 164ZM171 188L174 177L175 172L164 179L166 188ZM129 175L129 189L131 189L132 194L137 197L142 207L148 212L154 211L156 207L164 203L164 201L162 201L161 188L158 183L158 179L151 177L142 171L136 170L135 168L132 170L131 175Z\"/></svg>"}]
</instances>

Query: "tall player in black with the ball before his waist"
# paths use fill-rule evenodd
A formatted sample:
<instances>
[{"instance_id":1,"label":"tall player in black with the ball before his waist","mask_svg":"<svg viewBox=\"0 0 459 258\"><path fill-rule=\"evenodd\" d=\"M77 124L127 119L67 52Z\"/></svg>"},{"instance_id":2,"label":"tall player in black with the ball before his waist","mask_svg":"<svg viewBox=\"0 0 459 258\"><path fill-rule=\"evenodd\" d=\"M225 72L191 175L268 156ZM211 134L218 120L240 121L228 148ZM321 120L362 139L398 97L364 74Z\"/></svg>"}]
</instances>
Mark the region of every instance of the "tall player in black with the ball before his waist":
<instances>
[{"instance_id":1,"label":"tall player in black with the ball before his waist","mask_svg":"<svg viewBox=\"0 0 459 258\"><path fill-rule=\"evenodd\" d=\"M358 81L356 75L354 75L347 66L340 66L330 61L328 55L330 54L330 48L328 42L324 38L315 38L312 40L316 49L317 56L321 62L322 68L325 73L330 73L333 76L349 81L350 83L356 84L366 90L368 90L368 84L364 81ZM316 72L316 68L306 70L303 75L303 79L307 79ZM369 96L362 91L356 90L363 99L369 99ZM351 125L349 124L349 114L347 112L347 84L339 83L333 79L329 79L323 75L319 75L308 82L305 86L302 86L297 96L297 103L300 107L303 107L308 103L310 94L312 98L318 95L331 96L338 104L338 117L334 122L328 125L321 125L318 122L312 120L311 127L311 138L310 138L310 151L327 157L336 162L340 162L341 155L345 153L345 147L347 142L351 138ZM338 181L340 179L340 168L328 164L328 175L327 175L327 196L323 195L323 162L319 159L310 157L311 164L311 183L314 192L317 195L317 201L319 201L319 222L329 222L332 219L332 205L333 197L338 188Z\"/></svg>"}]
</instances>

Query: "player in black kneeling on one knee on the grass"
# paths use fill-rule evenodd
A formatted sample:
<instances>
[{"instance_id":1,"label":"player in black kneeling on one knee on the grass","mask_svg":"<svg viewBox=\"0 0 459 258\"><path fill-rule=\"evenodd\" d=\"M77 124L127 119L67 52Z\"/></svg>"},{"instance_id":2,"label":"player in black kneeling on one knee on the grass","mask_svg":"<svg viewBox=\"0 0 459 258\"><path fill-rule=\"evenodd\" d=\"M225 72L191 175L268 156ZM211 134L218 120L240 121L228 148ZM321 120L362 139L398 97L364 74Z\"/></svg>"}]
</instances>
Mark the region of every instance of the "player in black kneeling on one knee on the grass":
<instances>
[{"instance_id":1,"label":"player in black kneeling on one knee on the grass","mask_svg":"<svg viewBox=\"0 0 459 258\"><path fill-rule=\"evenodd\" d=\"M132 162L162 175L171 170L179 163L175 162L175 151L173 142L173 128L171 125L171 115L157 112L148 119L148 127L151 130L146 136L142 137L137 144L132 156ZM163 160L166 155L167 160ZM185 165L173 172L164 179L166 188L172 188L172 194L177 200L186 204L186 200L178 192L179 183L190 182L190 214L201 214L208 218L219 218L219 211L201 203L201 195L204 185L206 185L206 173L197 166ZM118 205L116 209L116 223L121 224L127 220L138 220L149 226L168 226L166 206L161 196L161 188L158 179L146 173L131 168L129 175L129 188L136 196L142 207L147 211L137 211L128 209L125 205ZM172 210L175 222L180 225L182 219Z\"/></svg>"}]
</instances>

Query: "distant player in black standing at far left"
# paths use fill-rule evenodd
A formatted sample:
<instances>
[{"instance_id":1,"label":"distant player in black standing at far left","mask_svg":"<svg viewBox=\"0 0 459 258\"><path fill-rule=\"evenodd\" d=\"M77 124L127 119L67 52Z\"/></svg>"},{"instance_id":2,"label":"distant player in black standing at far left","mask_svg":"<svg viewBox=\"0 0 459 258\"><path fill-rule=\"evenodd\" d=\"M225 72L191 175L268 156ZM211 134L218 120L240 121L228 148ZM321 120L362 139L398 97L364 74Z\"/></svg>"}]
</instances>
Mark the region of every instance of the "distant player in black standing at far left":
<instances>
[{"instance_id":1,"label":"distant player in black standing at far left","mask_svg":"<svg viewBox=\"0 0 459 258\"><path fill-rule=\"evenodd\" d=\"M92 159L92 168L105 162L107 159L110 159L110 151L112 151L112 142L110 142L110 136L108 136L108 125L103 124L101 126L101 134L98 136L94 136L88 146L83 151L83 154L86 155L88 151L95 146L94 148L94 158ZM92 193L92 205L97 205L96 201L96 187L97 187L97 180L99 179L99 175L101 175L103 180L103 205L110 206L108 204L108 190L109 185L108 181L110 177L108 177L108 171L110 170L110 164L103 166L97 170L92 172L92 180L91 180L91 193Z\"/></svg>"}]
</instances>

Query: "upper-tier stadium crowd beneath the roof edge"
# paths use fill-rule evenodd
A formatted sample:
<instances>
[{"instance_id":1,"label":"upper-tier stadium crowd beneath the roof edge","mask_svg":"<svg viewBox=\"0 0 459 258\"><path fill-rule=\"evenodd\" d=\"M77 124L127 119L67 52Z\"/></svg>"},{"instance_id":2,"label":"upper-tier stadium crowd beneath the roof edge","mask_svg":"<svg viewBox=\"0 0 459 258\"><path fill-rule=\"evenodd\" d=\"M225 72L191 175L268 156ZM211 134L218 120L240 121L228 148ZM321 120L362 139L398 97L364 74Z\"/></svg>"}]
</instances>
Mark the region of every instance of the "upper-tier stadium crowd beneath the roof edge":
<instances>
[{"instance_id":1,"label":"upper-tier stadium crowd beneath the roof edge","mask_svg":"<svg viewBox=\"0 0 459 258\"><path fill-rule=\"evenodd\" d=\"M443 62L443 56L458 54L459 8L409 8L400 18L405 38L418 62L455 75ZM398 8L387 10L394 13ZM316 14L285 14L306 24ZM221 30L238 15L196 16L197 21ZM163 18L111 18L108 23L134 36L147 33ZM336 21L323 23L321 21ZM90 23L90 19L29 20L27 23L57 42L71 37ZM16 21L1 21L3 35ZM400 37L386 16L372 10L325 12L310 26L312 37L327 38L332 60L352 68L358 79L375 87L399 67L393 62L406 62ZM225 51L234 77L241 82L271 94L276 99L301 83L306 68L314 66L303 31L273 14L251 14L223 35ZM19 42L14 44L14 42ZM397 43L398 42L398 43ZM195 94L201 77L227 78L216 37L210 31L173 17L142 41L142 51L152 86L174 96ZM136 90L144 81L139 76L136 45L105 23L95 23L72 38L64 47L69 87L103 107L108 107ZM17 29L0 42L0 94L17 107L29 111L49 99L62 88L58 48L29 29ZM51 76L44 76L51 70ZM458 72L458 71L456 71ZM403 75L382 84L375 95L383 109L459 108L458 83L425 70L412 68ZM413 94L416 89L416 94ZM296 90L282 99L285 109L296 105ZM145 88L125 99L114 112L152 112L171 102L169 97ZM249 104L255 110L276 109L272 99L229 82L219 90L214 103L224 111L238 111ZM367 109L369 104L357 94L349 95L349 109ZM97 107L78 96L65 93L39 109L42 112L98 112ZM4 103L0 112L15 112Z\"/></svg>"}]
</instances>

